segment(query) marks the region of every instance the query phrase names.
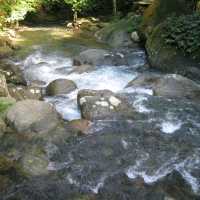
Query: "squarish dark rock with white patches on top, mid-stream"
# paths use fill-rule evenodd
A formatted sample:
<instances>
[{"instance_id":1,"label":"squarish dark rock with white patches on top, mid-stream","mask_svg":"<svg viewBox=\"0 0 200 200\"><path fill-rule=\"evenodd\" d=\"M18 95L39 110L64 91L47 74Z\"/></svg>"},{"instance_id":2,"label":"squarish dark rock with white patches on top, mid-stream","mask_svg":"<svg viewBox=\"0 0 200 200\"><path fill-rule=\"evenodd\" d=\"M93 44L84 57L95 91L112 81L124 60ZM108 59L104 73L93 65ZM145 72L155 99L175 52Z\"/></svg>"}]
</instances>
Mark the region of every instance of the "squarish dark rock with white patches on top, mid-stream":
<instances>
[{"instance_id":1,"label":"squarish dark rock with white patches on top, mid-stream","mask_svg":"<svg viewBox=\"0 0 200 200\"><path fill-rule=\"evenodd\" d=\"M81 115L87 120L114 120L134 117L125 99L109 90L81 90L78 94Z\"/></svg>"}]
</instances>

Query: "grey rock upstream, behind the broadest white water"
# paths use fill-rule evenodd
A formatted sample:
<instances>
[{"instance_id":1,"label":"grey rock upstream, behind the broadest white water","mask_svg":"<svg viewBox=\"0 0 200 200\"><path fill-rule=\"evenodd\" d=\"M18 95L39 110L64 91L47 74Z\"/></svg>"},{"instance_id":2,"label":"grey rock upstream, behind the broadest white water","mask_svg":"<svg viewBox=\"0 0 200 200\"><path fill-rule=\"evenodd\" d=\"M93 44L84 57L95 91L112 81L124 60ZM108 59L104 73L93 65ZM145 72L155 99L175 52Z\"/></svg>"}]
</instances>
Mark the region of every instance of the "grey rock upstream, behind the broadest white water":
<instances>
[{"instance_id":1,"label":"grey rock upstream, behind the broadest white water","mask_svg":"<svg viewBox=\"0 0 200 200\"><path fill-rule=\"evenodd\" d=\"M104 49L88 49L74 58L74 65L102 65L108 53L109 52Z\"/></svg>"}]
</instances>

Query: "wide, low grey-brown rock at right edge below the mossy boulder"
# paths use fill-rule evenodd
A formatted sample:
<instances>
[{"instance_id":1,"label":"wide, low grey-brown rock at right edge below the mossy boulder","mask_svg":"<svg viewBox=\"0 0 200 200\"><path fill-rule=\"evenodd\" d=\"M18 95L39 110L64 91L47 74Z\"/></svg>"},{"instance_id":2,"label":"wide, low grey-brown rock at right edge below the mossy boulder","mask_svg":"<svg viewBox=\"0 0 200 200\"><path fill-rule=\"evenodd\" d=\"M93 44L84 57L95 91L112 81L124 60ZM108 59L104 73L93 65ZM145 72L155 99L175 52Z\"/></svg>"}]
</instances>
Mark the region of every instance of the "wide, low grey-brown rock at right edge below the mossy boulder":
<instances>
[{"instance_id":1,"label":"wide, low grey-brown rock at right edge below the mossy boulder","mask_svg":"<svg viewBox=\"0 0 200 200\"><path fill-rule=\"evenodd\" d=\"M131 86L152 89L157 96L187 98L195 101L200 97L200 85L176 74L144 74L127 85L127 87Z\"/></svg>"}]
</instances>

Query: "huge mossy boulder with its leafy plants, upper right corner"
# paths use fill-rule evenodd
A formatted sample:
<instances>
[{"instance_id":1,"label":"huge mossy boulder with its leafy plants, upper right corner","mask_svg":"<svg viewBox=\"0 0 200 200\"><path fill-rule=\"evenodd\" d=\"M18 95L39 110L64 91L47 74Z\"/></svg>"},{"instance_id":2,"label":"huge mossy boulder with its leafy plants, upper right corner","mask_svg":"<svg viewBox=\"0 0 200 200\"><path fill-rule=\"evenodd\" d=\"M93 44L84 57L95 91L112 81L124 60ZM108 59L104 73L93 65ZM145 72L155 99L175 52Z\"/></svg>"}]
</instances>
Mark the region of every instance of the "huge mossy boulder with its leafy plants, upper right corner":
<instances>
[{"instance_id":1,"label":"huge mossy boulder with its leafy plants, upper right corner","mask_svg":"<svg viewBox=\"0 0 200 200\"><path fill-rule=\"evenodd\" d=\"M199 41L198 34L195 36L199 19L187 15L193 12L192 8L194 1L155 0L144 14L140 35L146 41L149 62L153 68L200 80L198 42L190 46L194 38L197 37L195 40Z\"/></svg>"}]
</instances>

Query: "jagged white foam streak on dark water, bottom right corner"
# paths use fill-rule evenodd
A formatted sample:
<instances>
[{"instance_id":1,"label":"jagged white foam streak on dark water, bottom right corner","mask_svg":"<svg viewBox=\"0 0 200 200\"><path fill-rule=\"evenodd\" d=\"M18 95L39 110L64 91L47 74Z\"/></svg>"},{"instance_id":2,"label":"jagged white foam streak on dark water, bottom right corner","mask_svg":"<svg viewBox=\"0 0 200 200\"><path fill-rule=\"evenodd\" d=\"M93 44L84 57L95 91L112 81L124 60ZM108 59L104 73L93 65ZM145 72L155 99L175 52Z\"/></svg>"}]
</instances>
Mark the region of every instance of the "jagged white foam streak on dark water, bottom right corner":
<instances>
[{"instance_id":1,"label":"jagged white foam streak on dark water, bottom right corner","mask_svg":"<svg viewBox=\"0 0 200 200\"><path fill-rule=\"evenodd\" d=\"M199 192L200 181L192 175L192 170L199 170L199 149L197 149L197 151L192 156L187 157L183 161L180 160L178 155L174 155L174 157L166 161L160 166L160 168L154 170L150 174L147 169L143 168L147 159L148 157L138 159L134 166L131 166L127 169L126 175L130 179L135 179L138 176L142 177L146 183L151 184L165 177L173 170L177 170L180 172L182 177L191 185L192 190L195 193Z\"/></svg>"}]
</instances>

